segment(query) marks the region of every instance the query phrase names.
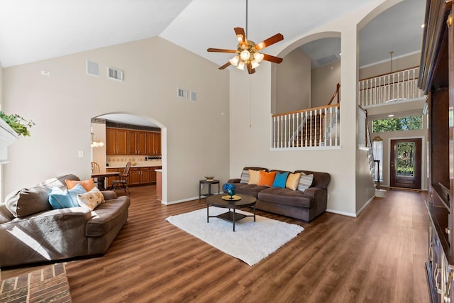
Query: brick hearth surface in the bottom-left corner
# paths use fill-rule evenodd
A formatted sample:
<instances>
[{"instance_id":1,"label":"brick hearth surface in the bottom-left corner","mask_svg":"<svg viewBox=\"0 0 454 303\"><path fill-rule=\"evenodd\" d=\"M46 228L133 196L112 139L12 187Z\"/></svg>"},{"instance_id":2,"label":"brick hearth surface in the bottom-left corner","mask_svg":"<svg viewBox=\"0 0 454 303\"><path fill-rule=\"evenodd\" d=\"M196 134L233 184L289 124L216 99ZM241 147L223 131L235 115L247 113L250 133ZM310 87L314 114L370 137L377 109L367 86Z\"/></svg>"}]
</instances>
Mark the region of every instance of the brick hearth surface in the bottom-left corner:
<instances>
[{"instance_id":1,"label":"brick hearth surface in the bottom-left corner","mask_svg":"<svg viewBox=\"0 0 454 303\"><path fill-rule=\"evenodd\" d=\"M0 302L72 302L65 264L0 281Z\"/></svg>"}]
</instances>

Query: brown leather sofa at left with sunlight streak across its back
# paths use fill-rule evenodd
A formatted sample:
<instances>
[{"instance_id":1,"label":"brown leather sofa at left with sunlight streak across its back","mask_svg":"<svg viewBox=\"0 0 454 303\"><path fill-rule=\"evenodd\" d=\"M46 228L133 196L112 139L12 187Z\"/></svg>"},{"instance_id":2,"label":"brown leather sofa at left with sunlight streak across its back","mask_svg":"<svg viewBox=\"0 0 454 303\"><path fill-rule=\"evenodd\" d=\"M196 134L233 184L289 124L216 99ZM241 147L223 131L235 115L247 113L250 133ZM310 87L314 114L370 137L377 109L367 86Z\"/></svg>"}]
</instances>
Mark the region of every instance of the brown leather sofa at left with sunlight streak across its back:
<instances>
[{"instance_id":1,"label":"brown leather sofa at left with sunlight streak across its back","mask_svg":"<svg viewBox=\"0 0 454 303\"><path fill-rule=\"evenodd\" d=\"M0 204L0 268L106 253L128 219L130 199L102 192L105 203L52 209L52 187L66 189L64 175L24 188Z\"/></svg>"}]
</instances>

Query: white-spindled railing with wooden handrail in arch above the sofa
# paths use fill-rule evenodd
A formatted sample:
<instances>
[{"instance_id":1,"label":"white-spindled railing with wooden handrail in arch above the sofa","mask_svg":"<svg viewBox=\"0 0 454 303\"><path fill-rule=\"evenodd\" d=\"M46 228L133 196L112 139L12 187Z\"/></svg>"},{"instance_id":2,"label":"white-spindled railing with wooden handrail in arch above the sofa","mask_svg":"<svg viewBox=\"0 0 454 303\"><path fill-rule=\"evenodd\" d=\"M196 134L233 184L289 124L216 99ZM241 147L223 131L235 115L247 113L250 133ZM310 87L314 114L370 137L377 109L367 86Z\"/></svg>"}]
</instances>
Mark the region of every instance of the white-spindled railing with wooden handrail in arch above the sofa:
<instances>
[{"instance_id":1,"label":"white-spindled railing with wooden handrail in arch above the sofa","mask_svg":"<svg viewBox=\"0 0 454 303\"><path fill-rule=\"evenodd\" d=\"M341 104L336 92L326 106L272 115L272 148L301 149L340 146ZM331 104L337 97L337 104Z\"/></svg>"}]
</instances>

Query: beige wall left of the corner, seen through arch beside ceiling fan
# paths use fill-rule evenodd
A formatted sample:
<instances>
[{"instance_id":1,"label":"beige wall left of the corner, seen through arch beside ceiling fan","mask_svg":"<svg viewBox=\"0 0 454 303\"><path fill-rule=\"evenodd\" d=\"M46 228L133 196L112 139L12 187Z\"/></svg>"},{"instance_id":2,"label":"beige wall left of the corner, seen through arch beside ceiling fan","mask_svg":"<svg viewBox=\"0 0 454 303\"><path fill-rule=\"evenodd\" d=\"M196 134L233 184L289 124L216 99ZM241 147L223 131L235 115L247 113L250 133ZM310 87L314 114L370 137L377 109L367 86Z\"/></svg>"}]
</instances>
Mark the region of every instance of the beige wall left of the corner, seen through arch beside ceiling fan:
<instances>
[{"instance_id":1,"label":"beige wall left of the corner, seen through arch beside ceiling fan","mask_svg":"<svg viewBox=\"0 0 454 303\"><path fill-rule=\"evenodd\" d=\"M272 114L310 107L311 59L296 48L276 67L276 111Z\"/></svg>"}]
</instances>

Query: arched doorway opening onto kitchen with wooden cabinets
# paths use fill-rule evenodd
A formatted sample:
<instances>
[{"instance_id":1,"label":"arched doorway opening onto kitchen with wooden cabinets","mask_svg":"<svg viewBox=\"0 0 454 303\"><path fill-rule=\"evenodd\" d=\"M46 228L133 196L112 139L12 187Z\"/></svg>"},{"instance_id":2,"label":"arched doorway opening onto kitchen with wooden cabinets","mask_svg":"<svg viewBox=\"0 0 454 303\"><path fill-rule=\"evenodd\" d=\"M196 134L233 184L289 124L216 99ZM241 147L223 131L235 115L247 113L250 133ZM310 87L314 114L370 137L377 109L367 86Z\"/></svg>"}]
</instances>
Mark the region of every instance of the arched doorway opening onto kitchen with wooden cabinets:
<instances>
[{"instance_id":1,"label":"arched doorway opening onto kitchen with wooden cabinets","mask_svg":"<svg viewBox=\"0 0 454 303\"><path fill-rule=\"evenodd\" d=\"M98 163L101 171L121 170L131 162L134 170L129 182L132 185L157 184L156 175L160 175L162 192L158 197L161 201L167 200L167 128L162 123L133 113L108 113L91 119L91 131L92 162ZM155 172L160 167L162 173Z\"/></svg>"}]
</instances>

